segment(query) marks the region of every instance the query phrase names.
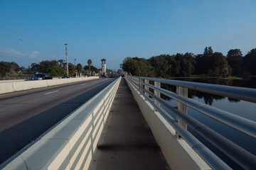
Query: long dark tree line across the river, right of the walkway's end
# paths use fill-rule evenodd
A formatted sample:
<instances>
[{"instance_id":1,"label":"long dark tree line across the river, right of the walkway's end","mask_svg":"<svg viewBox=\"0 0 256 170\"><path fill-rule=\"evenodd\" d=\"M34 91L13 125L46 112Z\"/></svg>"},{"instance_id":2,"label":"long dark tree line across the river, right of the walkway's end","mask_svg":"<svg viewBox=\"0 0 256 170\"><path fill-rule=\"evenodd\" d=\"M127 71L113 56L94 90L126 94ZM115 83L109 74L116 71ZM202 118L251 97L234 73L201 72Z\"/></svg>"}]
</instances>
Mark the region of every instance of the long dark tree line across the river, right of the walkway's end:
<instances>
[{"instance_id":1,"label":"long dark tree line across the river, right of the walkway's end","mask_svg":"<svg viewBox=\"0 0 256 170\"><path fill-rule=\"evenodd\" d=\"M203 54L191 52L176 55L157 55L148 60L127 57L120 67L125 72L142 77L191 77L205 75L211 77L244 76L256 74L256 48L244 57L240 49L229 50L225 56L206 47Z\"/></svg>"}]
</instances>

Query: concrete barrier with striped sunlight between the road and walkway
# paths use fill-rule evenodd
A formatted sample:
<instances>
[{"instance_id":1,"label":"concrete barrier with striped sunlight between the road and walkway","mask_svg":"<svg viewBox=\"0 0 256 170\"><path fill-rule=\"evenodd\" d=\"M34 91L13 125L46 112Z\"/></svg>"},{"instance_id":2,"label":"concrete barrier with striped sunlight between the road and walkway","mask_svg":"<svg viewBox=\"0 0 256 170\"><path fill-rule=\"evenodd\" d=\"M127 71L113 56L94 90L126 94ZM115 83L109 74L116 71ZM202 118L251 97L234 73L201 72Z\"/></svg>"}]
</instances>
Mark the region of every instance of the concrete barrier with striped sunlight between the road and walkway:
<instances>
[{"instance_id":1,"label":"concrete barrier with striped sunlight between the road and walkway","mask_svg":"<svg viewBox=\"0 0 256 170\"><path fill-rule=\"evenodd\" d=\"M115 80L71 113L25 152L17 155L4 170L88 169L120 80Z\"/></svg>"}]
</instances>

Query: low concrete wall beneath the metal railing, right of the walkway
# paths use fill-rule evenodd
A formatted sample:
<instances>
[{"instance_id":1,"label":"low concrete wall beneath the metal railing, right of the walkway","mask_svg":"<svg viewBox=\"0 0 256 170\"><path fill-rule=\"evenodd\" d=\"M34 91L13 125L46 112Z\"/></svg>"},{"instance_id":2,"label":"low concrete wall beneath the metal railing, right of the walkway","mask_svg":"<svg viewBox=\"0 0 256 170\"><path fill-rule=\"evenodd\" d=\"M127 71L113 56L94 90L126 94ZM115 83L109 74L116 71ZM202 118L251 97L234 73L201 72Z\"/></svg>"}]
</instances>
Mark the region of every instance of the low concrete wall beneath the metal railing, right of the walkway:
<instances>
[{"instance_id":1,"label":"low concrete wall beneath the metal railing, right of the walkway","mask_svg":"<svg viewBox=\"0 0 256 170\"><path fill-rule=\"evenodd\" d=\"M171 169L211 169L185 140L176 138L174 128L154 111L151 103L145 101L129 81L127 84Z\"/></svg>"}]
</instances>

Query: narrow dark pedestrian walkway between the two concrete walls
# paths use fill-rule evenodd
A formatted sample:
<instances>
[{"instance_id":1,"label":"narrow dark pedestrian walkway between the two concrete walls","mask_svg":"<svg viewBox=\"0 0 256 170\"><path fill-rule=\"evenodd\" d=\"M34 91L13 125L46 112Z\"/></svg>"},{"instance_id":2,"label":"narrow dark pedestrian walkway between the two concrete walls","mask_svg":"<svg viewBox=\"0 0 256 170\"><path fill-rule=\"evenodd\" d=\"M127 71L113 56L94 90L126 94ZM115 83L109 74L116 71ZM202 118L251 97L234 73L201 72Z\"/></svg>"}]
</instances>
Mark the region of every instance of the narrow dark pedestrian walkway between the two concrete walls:
<instances>
[{"instance_id":1,"label":"narrow dark pedestrian walkway between the two concrete walls","mask_svg":"<svg viewBox=\"0 0 256 170\"><path fill-rule=\"evenodd\" d=\"M123 78L92 169L169 169Z\"/></svg>"}]
</instances>

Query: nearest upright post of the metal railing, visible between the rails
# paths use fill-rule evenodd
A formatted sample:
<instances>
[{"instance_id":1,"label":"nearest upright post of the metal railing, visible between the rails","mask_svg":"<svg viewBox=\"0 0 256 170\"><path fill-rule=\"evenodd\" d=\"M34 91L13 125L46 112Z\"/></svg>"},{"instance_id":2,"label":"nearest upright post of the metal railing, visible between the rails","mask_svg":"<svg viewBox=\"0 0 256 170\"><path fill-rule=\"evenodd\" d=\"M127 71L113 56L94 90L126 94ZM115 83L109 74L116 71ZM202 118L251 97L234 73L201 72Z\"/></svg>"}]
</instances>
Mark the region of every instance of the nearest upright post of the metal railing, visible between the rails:
<instances>
[{"instance_id":1,"label":"nearest upright post of the metal railing, visible between the rails","mask_svg":"<svg viewBox=\"0 0 256 170\"><path fill-rule=\"evenodd\" d=\"M188 97L188 89L181 87L181 86L176 86L176 93L179 96L183 96L183 97ZM180 103L178 101L176 101L176 106L178 108L178 111L181 111L182 113L188 114L188 106L186 106L183 103ZM178 122L179 124L181 124L183 126L183 128L187 129L187 124L184 123L180 118L178 118L176 116L176 122ZM178 132L176 132L176 137L181 137Z\"/></svg>"}]
</instances>

